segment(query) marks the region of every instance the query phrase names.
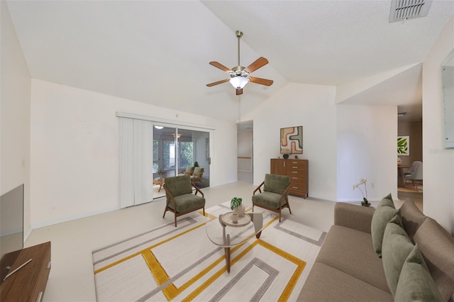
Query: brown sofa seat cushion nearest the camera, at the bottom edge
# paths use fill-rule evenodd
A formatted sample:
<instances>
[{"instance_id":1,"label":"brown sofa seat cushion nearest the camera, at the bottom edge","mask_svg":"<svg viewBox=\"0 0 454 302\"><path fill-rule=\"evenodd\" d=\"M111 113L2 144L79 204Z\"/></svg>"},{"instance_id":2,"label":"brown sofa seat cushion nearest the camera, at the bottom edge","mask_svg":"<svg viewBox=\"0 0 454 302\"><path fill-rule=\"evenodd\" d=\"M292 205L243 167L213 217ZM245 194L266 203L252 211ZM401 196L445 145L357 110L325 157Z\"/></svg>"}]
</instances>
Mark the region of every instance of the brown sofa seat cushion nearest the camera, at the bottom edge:
<instances>
[{"instance_id":1,"label":"brown sofa seat cushion nearest the camera, at the bottom edge","mask_svg":"<svg viewBox=\"0 0 454 302\"><path fill-rule=\"evenodd\" d=\"M375 255L374 258L378 259ZM393 301L393 298L388 291L383 291L327 264L315 262L297 301L386 302Z\"/></svg>"}]
</instances>

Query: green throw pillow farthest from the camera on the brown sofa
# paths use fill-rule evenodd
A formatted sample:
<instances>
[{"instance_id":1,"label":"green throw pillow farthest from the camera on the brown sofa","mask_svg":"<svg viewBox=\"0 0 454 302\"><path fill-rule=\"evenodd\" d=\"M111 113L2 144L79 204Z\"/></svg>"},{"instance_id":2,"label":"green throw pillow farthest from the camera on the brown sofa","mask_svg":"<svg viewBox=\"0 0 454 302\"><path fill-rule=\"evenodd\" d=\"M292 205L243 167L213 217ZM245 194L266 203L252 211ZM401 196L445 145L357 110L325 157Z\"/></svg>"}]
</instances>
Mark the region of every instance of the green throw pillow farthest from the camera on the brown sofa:
<instances>
[{"instance_id":1,"label":"green throw pillow farthest from the camera on the brown sofa","mask_svg":"<svg viewBox=\"0 0 454 302\"><path fill-rule=\"evenodd\" d=\"M370 224L372 246L374 247L375 253L378 257L382 257L384 228L386 228L389 220L396 215L397 211L398 210L394 207L391 194L389 194L384 197L380 203L378 203L374 215L372 216L372 223Z\"/></svg>"}]
</instances>

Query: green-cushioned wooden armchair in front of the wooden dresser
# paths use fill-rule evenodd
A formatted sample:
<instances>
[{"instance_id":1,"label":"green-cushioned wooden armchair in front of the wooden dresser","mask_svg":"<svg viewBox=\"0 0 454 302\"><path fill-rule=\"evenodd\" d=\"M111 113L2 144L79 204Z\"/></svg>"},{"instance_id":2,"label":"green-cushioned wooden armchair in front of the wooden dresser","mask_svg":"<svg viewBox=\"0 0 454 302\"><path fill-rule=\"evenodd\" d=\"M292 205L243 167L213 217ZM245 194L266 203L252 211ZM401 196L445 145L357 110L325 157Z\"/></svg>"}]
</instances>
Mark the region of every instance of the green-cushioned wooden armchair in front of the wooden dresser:
<instances>
[{"instance_id":1,"label":"green-cushioned wooden armchair in front of the wooden dresser","mask_svg":"<svg viewBox=\"0 0 454 302\"><path fill-rule=\"evenodd\" d=\"M263 186L263 191L261 187ZM269 211L279 213L281 222L281 211L283 208L292 210L289 204L290 177L284 175L265 174L265 180L253 192L254 206L265 208Z\"/></svg>"}]
</instances>

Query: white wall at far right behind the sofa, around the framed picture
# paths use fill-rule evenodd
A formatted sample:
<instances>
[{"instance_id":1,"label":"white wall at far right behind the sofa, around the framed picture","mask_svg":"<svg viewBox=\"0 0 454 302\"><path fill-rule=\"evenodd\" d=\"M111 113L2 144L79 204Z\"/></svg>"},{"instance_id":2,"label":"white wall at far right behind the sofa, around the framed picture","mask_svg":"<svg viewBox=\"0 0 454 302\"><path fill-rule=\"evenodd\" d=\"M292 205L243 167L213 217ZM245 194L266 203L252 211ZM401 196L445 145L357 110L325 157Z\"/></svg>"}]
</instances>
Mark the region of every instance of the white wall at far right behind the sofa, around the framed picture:
<instances>
[{"instance_id":1,"label":"white wall at far right behind the sofa, around the framed picture","mask_svg":"<svg viewBox=\"0 0 454 302\"><path fill-rule=\"evenodd\" d=\"M454 149L443 149L441 62L454 49L454 16L423 62L423 211L454 235Z\"/></svg>"}]
</instances>

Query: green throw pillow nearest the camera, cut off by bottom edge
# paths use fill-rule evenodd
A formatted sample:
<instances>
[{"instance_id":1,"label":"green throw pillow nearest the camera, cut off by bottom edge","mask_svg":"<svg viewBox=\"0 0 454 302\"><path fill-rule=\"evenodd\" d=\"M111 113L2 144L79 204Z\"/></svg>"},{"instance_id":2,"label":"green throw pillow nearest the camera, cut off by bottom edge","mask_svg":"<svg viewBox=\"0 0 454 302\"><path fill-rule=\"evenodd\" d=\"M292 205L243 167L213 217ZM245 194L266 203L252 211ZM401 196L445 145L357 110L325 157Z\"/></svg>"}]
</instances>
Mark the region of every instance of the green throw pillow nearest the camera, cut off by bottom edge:
<instances>
[{"instance_id":1,"label":"green throw pillow nearest the camera, cut off by bottom edge","mask_svg":"<svg viewBox=\"0 0 454 302\"><path fill-rule=\"evenodd\" d=\"M443 301L418 245L404 262L394 301Z\"/></svg>"}]
</instances>

